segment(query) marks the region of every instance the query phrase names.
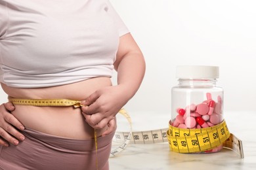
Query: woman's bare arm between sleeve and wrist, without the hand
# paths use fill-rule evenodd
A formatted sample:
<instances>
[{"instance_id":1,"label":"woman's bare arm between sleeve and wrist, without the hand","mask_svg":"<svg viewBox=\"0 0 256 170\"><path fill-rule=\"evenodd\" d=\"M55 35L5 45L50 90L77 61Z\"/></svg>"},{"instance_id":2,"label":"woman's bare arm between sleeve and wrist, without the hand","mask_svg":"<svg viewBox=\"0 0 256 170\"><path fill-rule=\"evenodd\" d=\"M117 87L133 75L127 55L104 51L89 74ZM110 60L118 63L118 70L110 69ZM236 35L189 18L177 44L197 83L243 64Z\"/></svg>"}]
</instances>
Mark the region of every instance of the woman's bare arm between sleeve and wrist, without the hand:
<instances>
[{"instance_id":1,"label":"woman's bare arm between sleeve and wrist, without the hand","mask_svg":"<svg viewBox=\"0 0 256 170\"><path fill-rule=\"evenodd\" d=\"M117 84L123 86L128 101L139 89L146 69L142 52L130 33L120 38L114 67Z\"/></svg>"}]
</instances>

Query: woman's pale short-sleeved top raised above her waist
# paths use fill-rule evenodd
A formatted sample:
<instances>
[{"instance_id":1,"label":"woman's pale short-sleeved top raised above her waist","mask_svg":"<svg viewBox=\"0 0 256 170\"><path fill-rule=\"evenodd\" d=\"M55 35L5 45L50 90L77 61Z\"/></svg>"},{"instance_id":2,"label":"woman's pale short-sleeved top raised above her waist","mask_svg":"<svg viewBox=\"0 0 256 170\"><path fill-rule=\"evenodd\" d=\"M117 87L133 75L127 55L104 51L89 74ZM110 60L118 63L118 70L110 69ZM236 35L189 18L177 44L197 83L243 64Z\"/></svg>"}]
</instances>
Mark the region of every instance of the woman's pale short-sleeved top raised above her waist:
<instances>
[{"instance_id":1,"label":"woman's pale short-sleeved top raised above her waist","mask_svg":"<svg viewBox=\"0 0 256 170\"><path fill-rule=\"evenodd\" d=\"M0 81L39 88L111 77L128 32L109 0L0 0Z\"/></svg>"}]
</instances>

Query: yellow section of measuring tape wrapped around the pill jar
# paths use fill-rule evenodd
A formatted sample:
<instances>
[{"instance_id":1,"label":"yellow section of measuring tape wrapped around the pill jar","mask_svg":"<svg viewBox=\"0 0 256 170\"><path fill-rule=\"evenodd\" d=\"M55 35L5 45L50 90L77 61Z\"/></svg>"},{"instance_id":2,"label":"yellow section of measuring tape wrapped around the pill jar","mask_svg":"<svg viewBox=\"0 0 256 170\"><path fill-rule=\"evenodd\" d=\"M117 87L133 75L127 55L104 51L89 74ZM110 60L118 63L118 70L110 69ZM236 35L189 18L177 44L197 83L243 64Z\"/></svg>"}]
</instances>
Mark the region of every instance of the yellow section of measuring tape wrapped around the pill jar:
<instances>
[{"instance_id":1,"label":"yellow section of measuring tape wrapped around the pill jar","mask_svg":"<svg viewBox=\"0 0 256 170\"><path fill-rule=\"evenodd\" d=\"M169 125L167 131L170 149L174 152L193 153L211 150L230 137L226 122L200 129L182 129Z\"/></svg>"}]
</instances>

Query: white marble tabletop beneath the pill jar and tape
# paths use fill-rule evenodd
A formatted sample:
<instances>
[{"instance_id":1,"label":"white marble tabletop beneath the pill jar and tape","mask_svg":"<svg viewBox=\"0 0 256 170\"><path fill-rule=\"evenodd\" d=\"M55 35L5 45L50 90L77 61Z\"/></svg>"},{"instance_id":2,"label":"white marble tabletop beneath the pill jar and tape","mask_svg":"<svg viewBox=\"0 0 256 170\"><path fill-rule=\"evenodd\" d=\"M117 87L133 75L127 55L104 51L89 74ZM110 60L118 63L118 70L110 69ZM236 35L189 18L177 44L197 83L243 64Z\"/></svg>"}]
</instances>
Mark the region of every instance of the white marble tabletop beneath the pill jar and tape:
<instances>
[{"instance_id":1,"label":"white marble tabletop beneath the pill jar and tape","mask_svg":"<svg viewBox=\"0 0 256 170\"><path fill-rule=\"evenodd\" d=\"M131 118L133 131L144 131L167 127L170 115L141 113L131 114ZM110 170L256 169L256 112L227 112L224 118L230 132L242 140L244 159L225 148L213 154L179 154L171 152L168 143L129 144L123 152L110 158ZM119 129L123 124L120 122Z\"/></svg>"}]
</instances>

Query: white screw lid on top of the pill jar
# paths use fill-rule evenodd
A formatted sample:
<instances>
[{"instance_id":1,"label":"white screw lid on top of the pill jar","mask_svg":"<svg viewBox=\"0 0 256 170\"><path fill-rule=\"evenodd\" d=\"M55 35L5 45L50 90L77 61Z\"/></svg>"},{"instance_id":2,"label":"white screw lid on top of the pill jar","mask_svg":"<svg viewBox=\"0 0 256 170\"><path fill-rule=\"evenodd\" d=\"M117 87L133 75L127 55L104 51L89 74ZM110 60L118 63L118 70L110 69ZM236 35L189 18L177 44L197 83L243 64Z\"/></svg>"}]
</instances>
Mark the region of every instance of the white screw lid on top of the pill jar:
<instances>
[{"instance_id":1,"label":"white screw lid on top of the pill jar","mask_svg":"<svg viewBox=\"0 0 256 170\"><path fill-rule=\"evenodd\" d=\"M219 67L207 65L179 65L177 78L219 78Z\"/></svg>"}]
</instances>

